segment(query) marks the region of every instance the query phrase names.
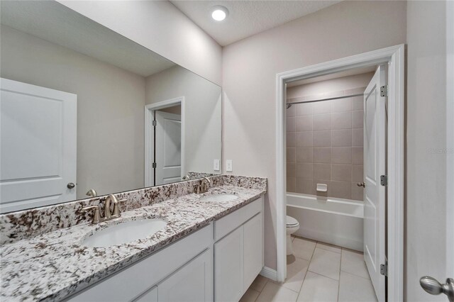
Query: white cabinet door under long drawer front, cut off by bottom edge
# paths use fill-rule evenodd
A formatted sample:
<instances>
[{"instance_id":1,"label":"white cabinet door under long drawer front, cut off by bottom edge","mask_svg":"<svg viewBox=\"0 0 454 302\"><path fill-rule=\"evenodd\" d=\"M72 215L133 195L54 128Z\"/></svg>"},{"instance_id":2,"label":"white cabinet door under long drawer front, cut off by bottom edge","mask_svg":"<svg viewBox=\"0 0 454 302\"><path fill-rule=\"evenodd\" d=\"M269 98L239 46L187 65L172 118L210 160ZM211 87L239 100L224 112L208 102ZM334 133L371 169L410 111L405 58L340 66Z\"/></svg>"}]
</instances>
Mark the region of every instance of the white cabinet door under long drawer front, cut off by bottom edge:
<instances>
[{"instance_id":1,"label":"white cabinet door under long drawer front, cut off by bottom edge","mask_svg":"<svg viewBox=\"0 0 454 302\"><path fill-rule=\"evenodd\" d=\"M213 301L213 250L206 250L157 286L157 301Z\"/></svg>"}]
</instances>

